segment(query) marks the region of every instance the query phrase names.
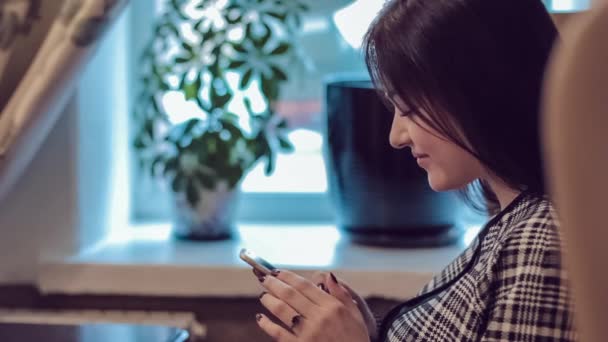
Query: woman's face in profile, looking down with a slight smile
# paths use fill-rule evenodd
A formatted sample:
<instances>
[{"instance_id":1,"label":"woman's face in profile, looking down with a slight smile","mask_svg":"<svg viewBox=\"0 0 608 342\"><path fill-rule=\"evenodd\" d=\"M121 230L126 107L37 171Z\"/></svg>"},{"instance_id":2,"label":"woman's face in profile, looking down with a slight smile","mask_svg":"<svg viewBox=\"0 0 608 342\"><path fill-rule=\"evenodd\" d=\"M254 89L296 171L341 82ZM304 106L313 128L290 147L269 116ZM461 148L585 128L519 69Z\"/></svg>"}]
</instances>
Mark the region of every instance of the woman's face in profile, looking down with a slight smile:
<instances>
[{"instance_id":1,"label":"woman's face in profile, looking down with a slight smile","mask_svg":"<svg viewBox=\"0 0 608 342\"><path fill-rule=\"evenodd\" d=\"M433 190L456 190L483 178L484 168L474 156L420 120L418 116L427 113L410 111L398 96L391 102L394 114L390 144L396 149L410 147Z\"/></svg>"}]
</instances>

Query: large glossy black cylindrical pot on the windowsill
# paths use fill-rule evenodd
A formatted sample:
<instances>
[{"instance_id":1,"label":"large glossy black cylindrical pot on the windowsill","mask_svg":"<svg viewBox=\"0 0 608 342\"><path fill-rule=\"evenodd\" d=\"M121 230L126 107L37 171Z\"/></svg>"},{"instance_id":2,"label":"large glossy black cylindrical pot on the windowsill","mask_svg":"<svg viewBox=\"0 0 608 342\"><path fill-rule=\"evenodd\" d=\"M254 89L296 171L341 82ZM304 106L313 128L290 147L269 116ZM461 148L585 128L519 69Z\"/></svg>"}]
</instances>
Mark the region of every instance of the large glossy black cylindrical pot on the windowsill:
<instances>
[{"instance_id":1,"label":"large glossy black cylindrical pot on the windowsill","mask_svg":"<svg viewBox=\"0 0 608 342\"><path fill-rule=\"evenodd\" d=\"M390 146L393 115L371 82L328 81L325 100L325 164L338 226L362 244L457 240L460 199L433 191L410 150Z\"/></svg>"}]
</instances>

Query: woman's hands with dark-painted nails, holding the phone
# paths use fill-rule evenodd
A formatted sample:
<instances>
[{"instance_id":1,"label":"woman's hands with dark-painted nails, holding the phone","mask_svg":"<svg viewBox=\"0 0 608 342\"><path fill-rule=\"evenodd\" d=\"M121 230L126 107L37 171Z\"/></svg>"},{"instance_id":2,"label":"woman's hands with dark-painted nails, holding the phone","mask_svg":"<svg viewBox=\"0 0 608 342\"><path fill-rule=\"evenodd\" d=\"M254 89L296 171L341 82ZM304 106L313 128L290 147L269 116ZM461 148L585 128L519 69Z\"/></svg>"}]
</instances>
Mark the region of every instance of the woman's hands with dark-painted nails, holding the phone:
<instances>
[{"instance_id":1,"label":"woman's hands with dark-painted nails, holding the phone","mask_svg":"<svg viewBox=\"0 0 608 342\"><path fill-rule=\"evenodd\" d=\"M260 277L268 291L260 301L285 326L257 314L259 326L275 341L369 341L365 321L348 290L329 274L322 282L327 293L299 275L281 270ZM335 277L334 277L335 278Z\"/></svg>"}]
</instances>

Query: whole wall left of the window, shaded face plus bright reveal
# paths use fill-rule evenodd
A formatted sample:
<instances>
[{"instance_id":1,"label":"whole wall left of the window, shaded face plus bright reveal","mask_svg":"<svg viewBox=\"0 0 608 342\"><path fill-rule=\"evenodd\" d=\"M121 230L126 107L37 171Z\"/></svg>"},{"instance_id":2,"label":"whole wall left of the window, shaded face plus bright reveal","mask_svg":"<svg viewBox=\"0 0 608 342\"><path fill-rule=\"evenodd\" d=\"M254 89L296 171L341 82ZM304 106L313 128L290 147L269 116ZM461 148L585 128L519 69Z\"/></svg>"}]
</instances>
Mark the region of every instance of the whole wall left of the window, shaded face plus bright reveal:
<instances>
[{"instance_id":1,"label":"whole wall left of the window, shaded face plus bright reveal","mask_svg":"<svg viewBox=\"0 0 608 342\"><path fill-rule=\"evenodd\" d=\"M74 254L126 224L126 12L106 33L74 97L0 203L2 285L31 284L41 258ZM46 8L42 13L52 15Z\"/></svg>"}]
</instances>

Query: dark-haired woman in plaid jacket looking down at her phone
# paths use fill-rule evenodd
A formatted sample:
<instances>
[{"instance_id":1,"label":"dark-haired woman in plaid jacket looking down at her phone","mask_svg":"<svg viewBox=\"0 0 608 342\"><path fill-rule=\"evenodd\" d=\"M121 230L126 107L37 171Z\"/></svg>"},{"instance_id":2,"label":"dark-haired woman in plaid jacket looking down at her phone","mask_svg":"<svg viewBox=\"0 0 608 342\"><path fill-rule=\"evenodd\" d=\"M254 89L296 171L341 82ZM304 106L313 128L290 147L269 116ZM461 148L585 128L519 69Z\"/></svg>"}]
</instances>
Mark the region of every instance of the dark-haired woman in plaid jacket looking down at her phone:
<instances>
[{"instance_id":1,"label":"dark-haired woman in plaid jacket looking down at her phone","mask_svg":"<svg viewBox=\"0 0 608 342\"><path fill-rule=\"evenodd\" d=\"M435 191L468 187L469 202L480 195L492 218L380 329L333 274L309 281L289 271L260 277L262 304L286 328L258 314L260 327L277 341L575 340L539 146L541 84L556 38L540 0L387 3L364 51L394 112L390 143L411 149Z\"/></svg>"}]
</instances>

